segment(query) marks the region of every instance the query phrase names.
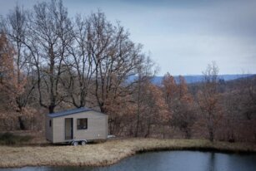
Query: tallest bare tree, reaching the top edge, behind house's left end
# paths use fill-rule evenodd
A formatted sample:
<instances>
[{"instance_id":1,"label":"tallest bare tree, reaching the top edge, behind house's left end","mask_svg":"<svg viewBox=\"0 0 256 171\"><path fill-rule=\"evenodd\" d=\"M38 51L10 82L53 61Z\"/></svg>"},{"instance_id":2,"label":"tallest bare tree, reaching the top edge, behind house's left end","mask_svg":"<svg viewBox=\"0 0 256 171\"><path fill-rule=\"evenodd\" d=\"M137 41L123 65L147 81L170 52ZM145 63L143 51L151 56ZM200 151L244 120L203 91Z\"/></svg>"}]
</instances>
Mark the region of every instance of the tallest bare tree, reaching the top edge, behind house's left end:
<instances>
[{"instance_id":1,"label":"tallest bare tree, reaching the top edge, behind house's left end","mask_svg":"<svg viewBox=\"0 0 256 171\"><path fill-rule=\"evenodd\" d=\"M53 113L65 93L61 76L65 72L67 47L73 41L71 21L62 1L39 2L28 16L28 46L38 73L39 103Z\"/></svg>"}]
</instances>

